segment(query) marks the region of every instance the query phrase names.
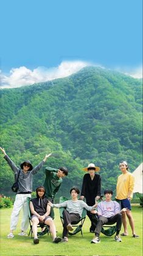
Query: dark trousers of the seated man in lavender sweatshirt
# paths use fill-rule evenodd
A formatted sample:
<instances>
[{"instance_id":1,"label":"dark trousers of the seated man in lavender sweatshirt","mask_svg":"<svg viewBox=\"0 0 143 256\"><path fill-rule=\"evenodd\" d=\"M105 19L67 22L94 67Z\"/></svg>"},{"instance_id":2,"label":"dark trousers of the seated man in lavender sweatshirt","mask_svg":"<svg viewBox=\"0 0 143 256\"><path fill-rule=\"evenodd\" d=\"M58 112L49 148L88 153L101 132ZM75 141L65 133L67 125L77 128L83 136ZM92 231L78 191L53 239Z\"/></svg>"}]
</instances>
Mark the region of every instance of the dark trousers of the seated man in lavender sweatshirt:
<instances>
[{"instance_id":1,"label":"dark trousers of the seated man in lavender sweatshirt","mask_svg":"<svg viewBox=\"0 0 143 256\"><path fill-rule=\"evenodd\" d=\"M114 215L112 217L109 217L109 218L100 216L99 220L97 222L97 225L96 225L96 233L98 233L100 235L100 232L102 230L102 226L104 224L108 224L108 223L114 224L116 222L117 222L116 228L119 231L121 226L122 226L122 215L120 213L117 213L116 215Z\"/></svg>"}]
</instances>

